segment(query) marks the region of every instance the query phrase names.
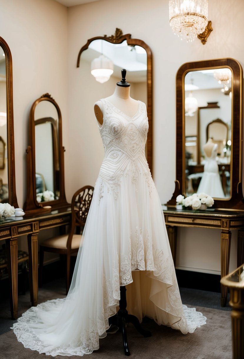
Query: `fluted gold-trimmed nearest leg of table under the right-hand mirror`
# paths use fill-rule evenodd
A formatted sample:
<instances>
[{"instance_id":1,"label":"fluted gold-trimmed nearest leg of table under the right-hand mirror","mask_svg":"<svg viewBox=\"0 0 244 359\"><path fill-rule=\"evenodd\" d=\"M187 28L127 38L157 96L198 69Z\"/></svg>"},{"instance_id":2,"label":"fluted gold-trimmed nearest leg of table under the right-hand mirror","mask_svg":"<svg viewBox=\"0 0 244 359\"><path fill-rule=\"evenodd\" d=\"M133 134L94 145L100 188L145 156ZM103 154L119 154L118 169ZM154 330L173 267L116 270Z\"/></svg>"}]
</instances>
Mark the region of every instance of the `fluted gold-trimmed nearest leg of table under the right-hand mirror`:
<instances>
[{"instance_id":1,"label":"fluted gold-trimmed nearest leg of table under the right-hand mirror","mask_svg":"<svg viewBox=\"0 0 244 359\"><path fill-rule=\"evenodd\" d=\"M221 278L229 274L230 241L231 232L229 230L221 232ZM226 306L227 292L228 288L221 284L221 307Z\"/></svg>"}]
</instances>

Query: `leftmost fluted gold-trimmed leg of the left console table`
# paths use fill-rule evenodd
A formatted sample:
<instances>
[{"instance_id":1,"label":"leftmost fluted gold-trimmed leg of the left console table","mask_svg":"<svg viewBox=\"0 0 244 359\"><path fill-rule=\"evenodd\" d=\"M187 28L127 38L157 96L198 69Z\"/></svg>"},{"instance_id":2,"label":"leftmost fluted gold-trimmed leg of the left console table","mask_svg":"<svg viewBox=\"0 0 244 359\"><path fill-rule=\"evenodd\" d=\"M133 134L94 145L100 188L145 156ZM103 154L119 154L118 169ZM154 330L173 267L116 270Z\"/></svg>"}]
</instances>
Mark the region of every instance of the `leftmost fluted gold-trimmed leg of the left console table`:
<instances>
[{"instance_id":1,"label":"leftmost fluted gold-trimmed leg of the left console table","mask_svg":"<svg viewBox=\"0 0 244 359\"><path fill-rule=\"evenodd\" d=\"M18 241L6 239L8 273L10 281L10 308L12 319L18 316Z\"/></svg>"}]
</instances>

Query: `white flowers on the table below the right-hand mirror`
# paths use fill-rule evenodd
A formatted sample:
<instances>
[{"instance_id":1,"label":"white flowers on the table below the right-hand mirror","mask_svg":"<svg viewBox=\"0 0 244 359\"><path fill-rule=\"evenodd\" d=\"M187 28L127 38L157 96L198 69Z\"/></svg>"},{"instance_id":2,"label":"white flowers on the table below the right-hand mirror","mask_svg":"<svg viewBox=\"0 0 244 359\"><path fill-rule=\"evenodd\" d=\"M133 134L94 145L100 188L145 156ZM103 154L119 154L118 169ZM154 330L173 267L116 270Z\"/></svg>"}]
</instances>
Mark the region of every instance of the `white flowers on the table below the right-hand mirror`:
<instances>
[{"instance_id":1,"label":"white flowers on the table below the right-hand mirror","mask_svg":"<svg viewBox=\"0 0 244 359\"><path fill-rule=\"evenodd\" d=\"M184 197L179 195L176 197L176 203L181 204L182 207L191 207L193 210L205 210L207 207L212 207L214 200L211 196L205 193L194 193L192 196Z\"/></svg>"}]
</instances>

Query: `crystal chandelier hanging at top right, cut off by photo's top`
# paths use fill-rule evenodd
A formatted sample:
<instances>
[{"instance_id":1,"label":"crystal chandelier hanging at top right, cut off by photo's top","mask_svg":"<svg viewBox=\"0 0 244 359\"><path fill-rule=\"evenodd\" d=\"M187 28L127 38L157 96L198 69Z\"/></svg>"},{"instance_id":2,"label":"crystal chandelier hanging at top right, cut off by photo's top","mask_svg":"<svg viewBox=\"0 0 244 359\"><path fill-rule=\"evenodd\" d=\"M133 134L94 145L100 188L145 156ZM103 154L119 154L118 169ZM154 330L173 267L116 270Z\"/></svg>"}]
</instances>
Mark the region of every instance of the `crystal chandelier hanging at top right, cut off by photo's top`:
<instances>
[{"instance_id":1,"label":"crystal chandelier hanging at top right, cut off by photo's top","mask_svg":"<svg viewBox=\"0 0 244 359\"><path fill-rule=\"evenodd\" d=\"M170 0L170 26L181 40L193 41L208 25L208 0Z\"/></svg>"}]
</instances>

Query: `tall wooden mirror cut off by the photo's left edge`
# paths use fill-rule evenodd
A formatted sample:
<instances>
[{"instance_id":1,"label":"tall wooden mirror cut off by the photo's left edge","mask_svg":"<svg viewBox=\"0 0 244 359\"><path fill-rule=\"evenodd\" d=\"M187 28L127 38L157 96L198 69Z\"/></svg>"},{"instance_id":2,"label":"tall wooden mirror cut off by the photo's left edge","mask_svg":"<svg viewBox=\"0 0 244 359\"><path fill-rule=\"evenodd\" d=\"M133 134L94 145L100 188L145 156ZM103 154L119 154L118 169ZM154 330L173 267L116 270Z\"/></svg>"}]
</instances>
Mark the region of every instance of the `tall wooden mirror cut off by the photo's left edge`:
<instances>
[{"instance_id":1,"label":"tall wooden mirror cut off by the photo's left edge","mask_svg":"<svg viewBox=\"0 0 244 359\"><path fill-rule=\"evenodd\" d=\"M12 56L0 37L0 202L18 208L15 190Z\"/></svg>"}]
</instances>

